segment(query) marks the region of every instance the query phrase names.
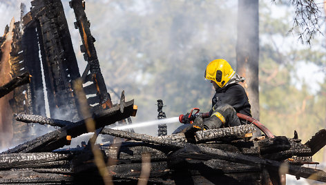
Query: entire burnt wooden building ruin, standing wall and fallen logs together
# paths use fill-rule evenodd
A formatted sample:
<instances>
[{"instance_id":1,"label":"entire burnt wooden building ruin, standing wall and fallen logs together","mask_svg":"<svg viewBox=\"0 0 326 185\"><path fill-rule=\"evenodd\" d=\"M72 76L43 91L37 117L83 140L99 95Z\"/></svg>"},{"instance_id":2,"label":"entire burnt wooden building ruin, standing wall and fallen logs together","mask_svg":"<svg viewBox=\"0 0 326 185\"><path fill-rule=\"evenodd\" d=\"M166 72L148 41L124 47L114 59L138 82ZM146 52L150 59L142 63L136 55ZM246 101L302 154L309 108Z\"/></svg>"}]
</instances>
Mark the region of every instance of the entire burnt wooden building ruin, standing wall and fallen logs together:
<instances>
[{"instance_id":1,"label":"entire burnt wooden building ruin, standing wall and fallen logs together","mask_svg":"<svg viewBox=\"0 0 326 185\"><path fill-rule=\"evenodd\" d=\"M99 68L85 4L72 0L70 7L83 41L81 52L88 62L82 75L59 0L32 1L30 12L12 23L0 38L3 46L8 33L14 35L10 52L0 55L1 62L9 56L8 72L12 76L30 72L32 76L30 84L9 83L9 88L3 88L6 93L15 88L10 100L12 112L17 113L13 124L21 125L23 121L59 128L3 151L0 184L136 184L140 180L148 184L281 184L281 176L286 173L326 182L324 171L303 166L318 164L311 157L326 144L324 129L302 144L297 134L294 138L250 139L252 124L186 135L166 135L166 125L160 125L158 137L104 128L124 119L131 123L137 106L133 100L124 100L124 92L119 104L112 104ZM77 79L82 83L74 84ZM38 93L44 92L44 84L46 95ZM80 89L84 94L79 93ZM51 118L45 117L44 96L48 97ZM80 98L86 99L87 104L82 104ZM162 100L157 101L157 106L158 118L164 119ZM89 111L89 117L83 108ZM56 117L66 111L70 113L68 117ZM90 123L93 130L88 128ZM25 126L15 130L24 130L28 127ZM90 131L95 134L88 144L60 149L70 144L71 138ZM21 140L26 139L24 134L28 133L21 133ZM98 134L124 138L124 142L95 144Z\"/></svg>"}]
</instances>

